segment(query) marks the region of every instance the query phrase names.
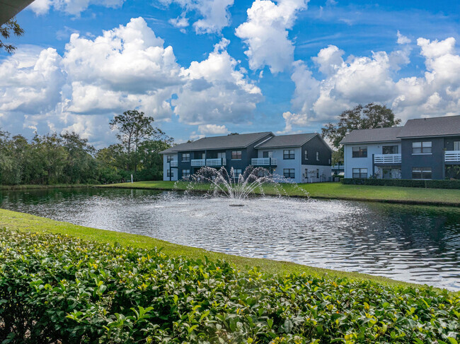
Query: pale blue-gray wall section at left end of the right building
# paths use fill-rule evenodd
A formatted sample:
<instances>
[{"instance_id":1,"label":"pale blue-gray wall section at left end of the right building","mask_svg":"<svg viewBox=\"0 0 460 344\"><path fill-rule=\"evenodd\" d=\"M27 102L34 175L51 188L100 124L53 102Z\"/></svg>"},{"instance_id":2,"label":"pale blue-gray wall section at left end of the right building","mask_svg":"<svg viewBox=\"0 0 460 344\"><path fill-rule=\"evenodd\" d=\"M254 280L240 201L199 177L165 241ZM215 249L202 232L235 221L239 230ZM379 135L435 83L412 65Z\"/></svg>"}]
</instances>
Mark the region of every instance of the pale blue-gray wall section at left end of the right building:
<instances>
[{"instance_id":1,"label":"pale blue-gray wall section at left end of the right building","mask_svg":"<svg viewBox=\"0 0 460 344\"><path fill-rule=\"evenodd\" d=\"M367 177L372 177L377 172L377 169L372 170L372 155L382 154L383 146L398 146L401 152L401 142L378 142L378 143L347 143L344 145L344 165L345 165L345 178L353 177L354 168L367 168ZM367 158L353 158L353 147L367 147ZM412 149L412 146L411 146ZM402 156L402 161L404 157Z\"/></svg>"}]
</instances>

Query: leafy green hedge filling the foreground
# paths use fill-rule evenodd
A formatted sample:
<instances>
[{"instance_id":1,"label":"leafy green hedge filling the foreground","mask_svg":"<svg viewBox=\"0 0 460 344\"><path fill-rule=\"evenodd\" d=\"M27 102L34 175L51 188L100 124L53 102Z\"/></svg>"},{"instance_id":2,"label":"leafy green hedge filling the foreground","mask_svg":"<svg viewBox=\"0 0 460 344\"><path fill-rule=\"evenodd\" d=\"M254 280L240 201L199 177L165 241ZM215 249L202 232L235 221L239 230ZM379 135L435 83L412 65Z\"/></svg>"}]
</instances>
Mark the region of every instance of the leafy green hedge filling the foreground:
<instances>
[{"instance_id":1,"label":"leafy green hedge filling the foreground","mask_svg":"<svg viewBox=\"0 0 460 344\"><path fill-rule=\"evenodd\" d=\"M0 343L457 343L431 288L237 271L0 230Z\"/></svg>"}]
</instances>

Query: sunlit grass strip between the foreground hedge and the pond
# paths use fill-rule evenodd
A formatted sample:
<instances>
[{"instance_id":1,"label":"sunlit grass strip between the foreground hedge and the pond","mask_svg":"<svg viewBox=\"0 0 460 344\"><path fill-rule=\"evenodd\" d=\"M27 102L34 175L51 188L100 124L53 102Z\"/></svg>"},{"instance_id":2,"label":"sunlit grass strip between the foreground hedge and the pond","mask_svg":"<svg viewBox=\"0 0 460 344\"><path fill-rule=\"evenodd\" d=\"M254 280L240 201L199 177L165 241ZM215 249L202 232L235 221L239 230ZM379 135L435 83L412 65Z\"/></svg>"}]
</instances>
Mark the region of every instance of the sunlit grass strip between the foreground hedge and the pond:
<instances>
[{"instance_id":1,"label":"sunlit grass strip between the foreground hedge and the pond","mask_svg":"<svg viewBox=\"0 0 460 344\"><path fill-rule=\"evenodd\" d=\"M207 256L209 259L224 259L229 263L234 263L241 271L248 271L254 266L258 266L261 271L267 273L307 273L318 277L325 275L331 278L350 278L352 280L373 280L374 282L384 285L410 285L389 278L379 276L366 275L363 273L348 273L342 271L333 271L323 268L314 268L311 266L303 266L295 263L284 261L271 261L269 259L254 259L240 256L231 256L229 254L221 254L205 249L197 249L193 247L185 247L182 245L171 244L163 240L144 237L142 235L132 235L123 232L113 232L109 230L98 230L71 223L40 218L35 215L17 213L11 210L0 209L0 228L8 230L18 230L21 232L39 232L53 234L67 234L81 239L93 240L100 243L115 244L119 243L124 246L139 247L144 249L152 249L154 247L161 248L168 256L177 257L185 256L191 259L201 259Z\"/></svg>"}]
</instances>

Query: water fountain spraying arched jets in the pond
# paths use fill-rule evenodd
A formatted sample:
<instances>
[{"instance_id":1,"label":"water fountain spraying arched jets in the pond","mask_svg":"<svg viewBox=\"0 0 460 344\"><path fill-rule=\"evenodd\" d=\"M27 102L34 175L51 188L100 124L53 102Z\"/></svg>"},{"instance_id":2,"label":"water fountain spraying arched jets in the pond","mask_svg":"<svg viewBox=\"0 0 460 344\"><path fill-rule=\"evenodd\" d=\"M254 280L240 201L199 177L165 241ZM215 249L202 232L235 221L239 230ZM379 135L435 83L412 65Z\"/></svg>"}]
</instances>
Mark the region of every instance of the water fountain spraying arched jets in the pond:
<instances>
[{"instance_id":1,"label":"water fountain spraying arched jets in the pond","mask_svg":"<svg viewBox=\"0 0 460 344\"><path fill-rule=\"evenodd\" d=\"M226 196L234 201L242 201L250 194L258 191L264 194L263 185L270 184L278 196L283 194L280 183L295 184L290 179L278 174L272 174L263 167L248 166L242 174L236 174L233 167L230 172L225 167L219 170L212 167L202 167L190 176L188 190L195 189L197 184L209 183L214 196ZM244 206L243 203L231 203L229 206Z\"/></svg>"}]
</instances>

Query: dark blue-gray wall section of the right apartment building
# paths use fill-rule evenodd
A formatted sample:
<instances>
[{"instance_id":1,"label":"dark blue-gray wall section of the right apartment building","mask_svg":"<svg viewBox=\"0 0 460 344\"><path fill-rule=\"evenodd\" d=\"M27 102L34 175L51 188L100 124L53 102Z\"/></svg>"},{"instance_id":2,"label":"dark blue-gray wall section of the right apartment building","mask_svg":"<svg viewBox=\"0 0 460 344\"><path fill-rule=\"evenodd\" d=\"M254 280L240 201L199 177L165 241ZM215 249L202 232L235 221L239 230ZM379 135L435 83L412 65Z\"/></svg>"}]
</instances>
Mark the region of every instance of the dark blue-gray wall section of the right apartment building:
<instances>
[{"instance_id":1,"label":"dark blue-gray wall section of the right apartment building","mask_svg":"<svg viewBox=\"0 0 460 344\"><path fill-rule=\"evenodd\" d=\"M432 153L413 154L412 143L432 142ZM403 138L401 141L401 177L412 179L413 167L431 167L432 179L444 179L444 138Z\"/></svg>"}]
</instances>

